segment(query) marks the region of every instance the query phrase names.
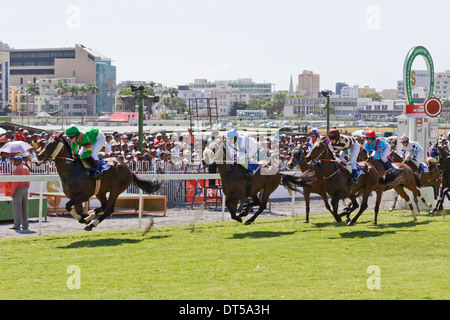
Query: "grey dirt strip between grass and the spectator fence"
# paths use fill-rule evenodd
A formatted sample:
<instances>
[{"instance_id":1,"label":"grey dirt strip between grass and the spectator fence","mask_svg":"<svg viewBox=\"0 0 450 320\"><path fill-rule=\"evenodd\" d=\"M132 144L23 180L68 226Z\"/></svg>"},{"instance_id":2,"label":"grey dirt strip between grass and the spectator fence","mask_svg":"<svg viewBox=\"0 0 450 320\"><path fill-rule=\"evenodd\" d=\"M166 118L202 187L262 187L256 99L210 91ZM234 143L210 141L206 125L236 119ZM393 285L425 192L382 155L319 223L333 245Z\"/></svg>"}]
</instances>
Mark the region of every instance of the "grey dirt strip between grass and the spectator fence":
<instances>
[{"instance_id":1,"label":"grey dirt strip between grass and the spectator fence","mask_svg":"<svg viewBox=\"0 0 450 320\"><path fill-rule=\"evenodd\" d=\"M369 199L369 208L367 210L373 211L374 197ZM190 208L171 208L167 209L166 216L162 214L153 215L154 227L161 227L167 225L192 225L203 222L213 222L222 220L221 208L214 209L213 207L204 210L203 208L196 207L197 209L191 210ZM342 209L342 203L339 206ZM380 208L383 210L383 208ZM295 214L299 216L299 221L305 219L305 205L303 200L297 199L295 203ZM320 198L314 198L311 201L311 214L326 213L323 201ZM250 217L253 213L250 213ZM356 212L354 213L356 214ZM352 214L352 216L354 216ZM371 213L373 215L373 213ZM364 213L363 213L364 215ZM258 223L260 219L267 218L280 218L292 216L292 204L291 201L274 201L272 203L271 212L264 211L255 223ZM244 221L247 218L244 218ZM225 211L225 221L231 221L230 214ZM145 229L149 224L149 216L144 215L142 217L141 228ZM310 218L311 222L314 222L314 217ZM334 221L330 214L330 221ZM236 222L238 224L238 222ZM30 226L28 230L13 230L10 229L13 226L12 222L0 223L0 238L14 238L14 237L28 237L37 236L39 232L39 221L37 218L30 219ZM53 235L60 233L76 233L86 232L83 230L85 225L79 224L72 216L65 214L63 216L56 217L50 215L47 217L47 221L42 222L42 235ZM139 229L138 215L114 215L112 218L104 220L96 229L96 232L105 230L130 230Z\"/></svg>"}]
</instances>

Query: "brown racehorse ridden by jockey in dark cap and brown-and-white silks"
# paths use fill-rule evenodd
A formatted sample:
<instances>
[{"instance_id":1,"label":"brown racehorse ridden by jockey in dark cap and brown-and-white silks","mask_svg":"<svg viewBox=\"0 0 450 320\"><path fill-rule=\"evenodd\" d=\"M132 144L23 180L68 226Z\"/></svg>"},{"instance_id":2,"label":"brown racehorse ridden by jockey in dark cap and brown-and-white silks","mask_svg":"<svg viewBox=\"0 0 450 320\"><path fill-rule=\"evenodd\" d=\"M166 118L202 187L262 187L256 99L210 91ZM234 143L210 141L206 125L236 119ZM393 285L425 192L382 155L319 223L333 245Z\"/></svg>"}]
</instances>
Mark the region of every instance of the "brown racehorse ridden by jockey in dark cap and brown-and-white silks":
<instances>
[{"instance_id":1,"label":"brown racehorse ridden by jockey in dark cap and brown-and-white silks","mask_svg":"<svg viewBox=\"0 0 450 320\"><path fill-rule=\"evenodd\" d=\"M306 161L321 161L322 174L327 186L327 193L331 196L331 205L333 207L333 216L338 215L339 200L349 198L351 200L351 207L340 214L340 216L346 215L347 225L354 225L359 216L367 209L367 201L372 190L375 190L378 185L379 176L378 172L367 162L359 162L359 166L363 170L364 174L358 179L358 184L351 185L350 172L346 168L342 168L341 165L335 160L335 157L331 150L325 143L326 137L318 139L312 147L309 154L306 156ZM359 207L356 197L358 194L362 194L361 207L356 216L350 220L350 214Z\"/></svg>"}]
</instances>

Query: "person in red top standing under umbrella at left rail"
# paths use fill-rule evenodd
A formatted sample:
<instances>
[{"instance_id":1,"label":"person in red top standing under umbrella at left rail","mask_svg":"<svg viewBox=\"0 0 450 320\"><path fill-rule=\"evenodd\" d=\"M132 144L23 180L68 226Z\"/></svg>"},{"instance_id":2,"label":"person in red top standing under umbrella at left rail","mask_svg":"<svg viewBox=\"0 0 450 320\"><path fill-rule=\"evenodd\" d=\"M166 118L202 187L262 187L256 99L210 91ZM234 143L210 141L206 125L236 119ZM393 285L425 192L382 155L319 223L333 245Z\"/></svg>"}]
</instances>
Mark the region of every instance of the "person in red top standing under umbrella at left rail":
<instances>
[{"instance_id":1,"label":"person in red top standing under umbrella at left rail","mask_svg":"<svg viewBox=\"0 0 450 320\"><path fill-rule=\"evenodd\" d=\"M30 170L22 164L23 158L17 156L12 159L16 169L15 176L29 176ZM30 182L13 182L11 186L11 197L13 199L14 226L12 229L20 230L22 224L23 230L28 230L28 188Z\"/></svg>"}]
</instances>

